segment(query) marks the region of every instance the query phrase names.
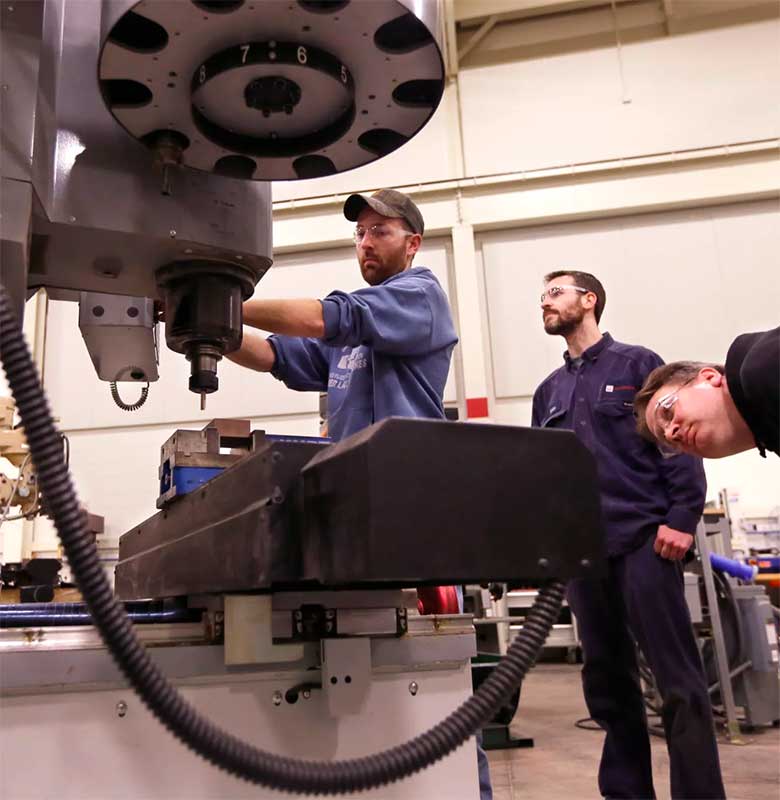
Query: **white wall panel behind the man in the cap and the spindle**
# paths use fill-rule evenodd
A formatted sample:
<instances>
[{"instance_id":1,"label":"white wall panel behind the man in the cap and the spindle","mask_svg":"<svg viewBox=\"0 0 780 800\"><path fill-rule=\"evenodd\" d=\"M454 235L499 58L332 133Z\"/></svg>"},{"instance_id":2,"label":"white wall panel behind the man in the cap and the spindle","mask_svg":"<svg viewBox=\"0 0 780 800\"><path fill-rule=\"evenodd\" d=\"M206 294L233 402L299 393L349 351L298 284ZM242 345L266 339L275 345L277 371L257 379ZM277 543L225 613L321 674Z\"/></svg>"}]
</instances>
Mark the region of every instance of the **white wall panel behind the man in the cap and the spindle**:
<instances>
[{"instance_id":1,"label":"white wall panel behind the man in the cap and the spindle","mask_svg":"<svg viewBox=\"0 0 780 800\"><path fill-rule=\"evenodd\" d=\"M426 242L417 263L431 268L448 291L447 245ZM257 285L257 297L324 297L333 289L352 291L364 286L354 248L283 255ZM138 411L122 411L111 399L108 384L98 380L78 328L76 303L52 302L49 310L46 389L54 414L65 430L149 425L182 419L208 421L213 417L264 417L316 413L316 393L293 392L270 375L251 372L227 359L219 365L220 389L207 399L206 411L188 391L189 362L164 345L160 349L160 379ZM138 396L139 388L120 384L123 398ZM455 399L452 376L445 394Z\"/></svg>"}]
</instances>

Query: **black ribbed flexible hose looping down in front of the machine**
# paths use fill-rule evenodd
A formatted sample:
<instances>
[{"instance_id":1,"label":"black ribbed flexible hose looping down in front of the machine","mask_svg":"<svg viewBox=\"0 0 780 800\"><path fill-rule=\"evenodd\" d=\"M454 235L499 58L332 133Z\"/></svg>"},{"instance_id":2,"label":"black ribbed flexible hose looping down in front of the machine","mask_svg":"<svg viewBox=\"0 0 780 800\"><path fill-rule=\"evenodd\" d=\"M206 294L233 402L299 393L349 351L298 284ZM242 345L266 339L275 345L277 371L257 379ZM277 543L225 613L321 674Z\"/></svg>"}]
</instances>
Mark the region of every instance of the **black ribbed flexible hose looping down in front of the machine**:
<instances>
[{"instance_id":1,"label":"black ribbed flexible hose looping down in front of the machine","mask_svg":"<svg viewBox=\"0 0 780 800\"><path fill-rule=\"evenodd\" d=\"M540 590L509 651L477 692L429 731L382 753L347 761L302 761L258 750L202 717L149 658L112 593L98 559L24 336L0 284L0 358L24 424L41 490L68 563L106 646L150 711L184 744L217 767L254 783L304 794L346 794L400 780L462 745L522 682L558 618L565 587Z\"/></svg>"}]
</instances>

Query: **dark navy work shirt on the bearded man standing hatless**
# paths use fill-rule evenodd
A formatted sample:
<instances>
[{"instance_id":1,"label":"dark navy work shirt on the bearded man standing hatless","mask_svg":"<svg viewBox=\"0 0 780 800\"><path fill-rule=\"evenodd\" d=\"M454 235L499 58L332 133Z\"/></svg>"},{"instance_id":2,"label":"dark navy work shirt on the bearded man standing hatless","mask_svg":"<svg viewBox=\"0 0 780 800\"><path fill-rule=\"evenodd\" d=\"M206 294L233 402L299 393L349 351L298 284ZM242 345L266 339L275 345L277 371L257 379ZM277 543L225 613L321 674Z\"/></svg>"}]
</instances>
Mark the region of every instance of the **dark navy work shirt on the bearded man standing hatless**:
<instances>
[{"instance_id":1,"label":"dark navy work shirt on the bearded man standing hatless","mask_svg":"<svg viewBox=\"0 0 780 800\"><path fill-rule=\"evenodd\" d=\"M605 333L581 362L564 360L534 393L533 425L574 431L596 457L607 554L640 547L659 525L694 533L707 490L701 459L664 459L636 432L634 395L660 356Z\"/></svg>"}]
</instances>

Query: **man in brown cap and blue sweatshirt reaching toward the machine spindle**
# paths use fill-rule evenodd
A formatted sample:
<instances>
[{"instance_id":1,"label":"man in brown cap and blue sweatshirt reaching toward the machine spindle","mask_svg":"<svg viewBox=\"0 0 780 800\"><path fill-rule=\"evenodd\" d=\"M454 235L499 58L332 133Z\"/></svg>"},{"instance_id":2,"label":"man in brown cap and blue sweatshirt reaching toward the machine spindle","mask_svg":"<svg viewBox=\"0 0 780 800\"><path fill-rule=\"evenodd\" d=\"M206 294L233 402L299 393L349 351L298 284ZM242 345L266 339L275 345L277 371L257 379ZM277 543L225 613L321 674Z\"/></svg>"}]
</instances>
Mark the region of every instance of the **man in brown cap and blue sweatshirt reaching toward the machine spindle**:
<instances>
[{"instance_id":1,"label":"man in brown cap and blue sweatshirt reaching toward the machine spindle","mask_svg":"<svg viewBox=\"0 0 780 800\"><path fill-rule=\"evenodd\" d=\"M270 372L290 389L328 393L328 435L339 441L386 417L444 419L443 394L458 336L436 276L413 267L424 221L393 189L353 194L358 264L368 286L322 300L248 300L244 331L228 357ZM477 748L480 800L491 800L487 756Z\"/></svg>"}]
</instances>

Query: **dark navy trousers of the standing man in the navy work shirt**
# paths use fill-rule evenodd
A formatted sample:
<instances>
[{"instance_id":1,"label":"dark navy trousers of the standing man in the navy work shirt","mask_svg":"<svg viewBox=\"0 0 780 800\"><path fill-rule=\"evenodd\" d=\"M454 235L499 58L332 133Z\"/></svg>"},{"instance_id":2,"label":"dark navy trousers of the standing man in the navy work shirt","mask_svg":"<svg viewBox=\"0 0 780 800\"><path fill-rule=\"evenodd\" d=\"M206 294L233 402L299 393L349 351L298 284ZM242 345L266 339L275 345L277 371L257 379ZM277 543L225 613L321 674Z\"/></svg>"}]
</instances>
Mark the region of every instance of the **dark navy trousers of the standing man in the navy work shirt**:
<instances>
[{"instance_id":1,"label":"dark navy trousers of the standing man in the navy work shirt","mask_svg":"<svg viewBox=\"0 0 780 800\"><path fill-rule=\"evenodd\" d=\"M569 583L584 652L582 685L591 717L606 731L599 789L609 798L655 798L650 737L634 640L663 699L662 721L675 800L720 800L725 790L709 695L682 567L653 550L609 559L607 577Z\"/></svg>"}]
</instances>

